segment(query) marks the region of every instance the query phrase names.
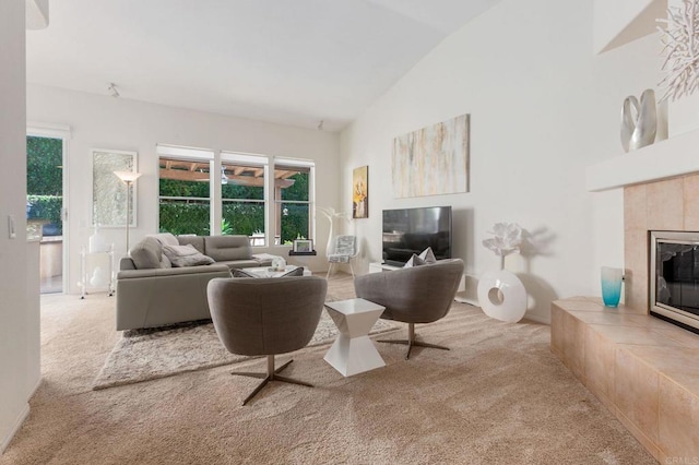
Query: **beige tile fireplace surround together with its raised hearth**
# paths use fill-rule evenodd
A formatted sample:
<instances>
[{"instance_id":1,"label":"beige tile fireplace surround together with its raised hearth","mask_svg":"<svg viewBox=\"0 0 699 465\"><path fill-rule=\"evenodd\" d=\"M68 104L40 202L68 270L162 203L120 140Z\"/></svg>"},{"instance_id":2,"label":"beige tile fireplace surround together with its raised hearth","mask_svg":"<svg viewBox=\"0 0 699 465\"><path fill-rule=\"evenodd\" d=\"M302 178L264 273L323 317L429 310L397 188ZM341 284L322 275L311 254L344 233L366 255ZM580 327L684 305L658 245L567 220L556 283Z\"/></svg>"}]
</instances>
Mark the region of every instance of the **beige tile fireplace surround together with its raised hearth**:
<instances>
[{"instance_id":1,"label":"beige tile fireplace surround together with its raised hearth","mask_svg":"<svg viewBox=\"0 0 699 465\"><path fill-rule=\"evenodd\" d=\"M699 231L699 174L624 188L625 301L552 305L552 351L661 463L699 464L699 335L648 312L648 231Z\"/></svg>"}]
</instances>

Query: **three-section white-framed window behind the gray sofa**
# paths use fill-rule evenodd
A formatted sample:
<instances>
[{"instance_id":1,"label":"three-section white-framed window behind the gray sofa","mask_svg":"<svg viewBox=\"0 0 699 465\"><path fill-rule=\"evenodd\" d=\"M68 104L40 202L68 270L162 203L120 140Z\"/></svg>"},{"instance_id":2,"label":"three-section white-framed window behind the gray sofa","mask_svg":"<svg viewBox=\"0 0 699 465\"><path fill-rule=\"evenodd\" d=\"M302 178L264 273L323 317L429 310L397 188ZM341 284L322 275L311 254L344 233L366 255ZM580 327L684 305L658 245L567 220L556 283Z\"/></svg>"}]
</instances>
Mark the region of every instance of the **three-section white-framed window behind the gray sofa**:
<instances>
[{"instance_id":1,"label":"three-section white-framed window behind the gray sofa","mask_svg":"<svg viewBox=\"0 0 699 465\"><path fill-rule=\"evenodd\" d=\"M252 246L312 239L312 162L232 152L217 159L211 151L165 145L157 152L162 233L220 230L249 236Z\"/></svg>"}]
</instances>

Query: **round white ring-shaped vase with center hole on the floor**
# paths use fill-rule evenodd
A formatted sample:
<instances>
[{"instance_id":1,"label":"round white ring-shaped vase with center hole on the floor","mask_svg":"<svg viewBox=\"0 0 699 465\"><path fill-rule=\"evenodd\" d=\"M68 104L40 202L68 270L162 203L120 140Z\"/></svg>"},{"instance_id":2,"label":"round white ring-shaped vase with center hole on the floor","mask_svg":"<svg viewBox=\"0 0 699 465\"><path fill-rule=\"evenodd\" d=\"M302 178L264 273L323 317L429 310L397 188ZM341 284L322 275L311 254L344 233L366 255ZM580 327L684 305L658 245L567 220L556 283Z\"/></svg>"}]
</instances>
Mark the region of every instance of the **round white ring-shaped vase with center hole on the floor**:
<instances>
[{"instance_id":1,"label":"round white ring-shaped vase with center hole on the floor","mask_svg":"<svg viewBox=\"0 0 699 465\"><path fill-rule=\"evenodd\" d=\"M517 323L526 312L526 290L513 273L489 271L478 279L478 302L488 317Z\"/></svg>"}]
</instances>

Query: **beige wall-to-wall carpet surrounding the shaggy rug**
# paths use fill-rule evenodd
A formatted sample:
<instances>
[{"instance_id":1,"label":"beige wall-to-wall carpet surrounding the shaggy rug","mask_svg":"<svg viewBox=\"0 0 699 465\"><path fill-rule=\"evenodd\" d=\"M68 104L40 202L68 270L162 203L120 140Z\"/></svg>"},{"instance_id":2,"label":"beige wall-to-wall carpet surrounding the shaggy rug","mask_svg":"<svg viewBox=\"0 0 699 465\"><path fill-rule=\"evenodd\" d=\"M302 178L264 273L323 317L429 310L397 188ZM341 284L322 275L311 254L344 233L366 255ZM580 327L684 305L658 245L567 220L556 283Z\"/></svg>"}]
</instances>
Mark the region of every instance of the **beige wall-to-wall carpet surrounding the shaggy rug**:
<instances>
[{"instance_id":1,"label":"beige wall-to-wall carpet surrounding the shaggy rug","mask_svg":"<svg viewBox=\"0 0 699 465\"><path fill-rule=\"evenodd\" d=\"M316 388L271 383L245 407L257 380L229 367L93 391L118 339L114 298L43 299L42 326L44 380L1 465L655 463L550 353L548 326L463 303L417 325L450 351L406 361L377 344L387 366L343 378L310 347L287 371Z\"/></svg>"}]
</instances>

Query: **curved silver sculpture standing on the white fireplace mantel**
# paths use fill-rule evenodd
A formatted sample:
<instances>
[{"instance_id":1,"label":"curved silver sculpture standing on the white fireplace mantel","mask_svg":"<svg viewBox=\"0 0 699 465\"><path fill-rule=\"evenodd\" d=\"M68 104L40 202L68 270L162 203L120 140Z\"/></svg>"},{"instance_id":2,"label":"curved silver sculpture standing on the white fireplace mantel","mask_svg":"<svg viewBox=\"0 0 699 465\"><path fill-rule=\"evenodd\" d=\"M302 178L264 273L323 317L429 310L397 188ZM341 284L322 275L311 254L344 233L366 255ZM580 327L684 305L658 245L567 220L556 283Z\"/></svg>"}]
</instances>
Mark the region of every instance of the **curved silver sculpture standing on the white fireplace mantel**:
<instances>
[{"instance_id":1,"label":"curved silver sculpture standing on the white fireplace mantel","mask_svg":"<svg viewBox=\"0 0 699 465\"><path fill-rule=\"evenodd\" d=\"M657 132L657 111L655 92L647 88L641 102L629 95L621 105L621 146L624 152L637 150L655 142Z\"/></svg>"}]
</instances>

